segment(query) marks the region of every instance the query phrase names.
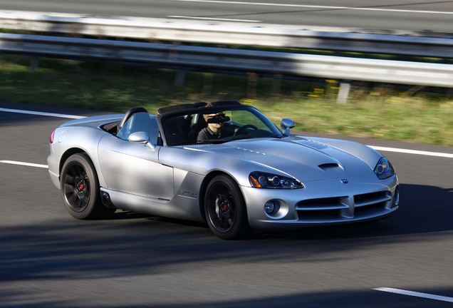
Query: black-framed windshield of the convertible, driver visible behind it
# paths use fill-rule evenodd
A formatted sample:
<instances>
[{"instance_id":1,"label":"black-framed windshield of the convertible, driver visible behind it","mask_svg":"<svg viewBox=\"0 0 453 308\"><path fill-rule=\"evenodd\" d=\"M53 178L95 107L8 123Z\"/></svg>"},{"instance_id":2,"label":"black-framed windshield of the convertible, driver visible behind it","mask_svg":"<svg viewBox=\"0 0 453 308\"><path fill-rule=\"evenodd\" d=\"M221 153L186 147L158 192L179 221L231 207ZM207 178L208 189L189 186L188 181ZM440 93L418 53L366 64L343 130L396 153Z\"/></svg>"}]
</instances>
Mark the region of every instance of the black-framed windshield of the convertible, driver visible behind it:
<instances>
[{"instance_id":1,"label":"black-framed windshield of the convertible, driver visible behind it","mask_svg":"<svg viewBox=\"0 0 453 308\"><path fill-rule=\"evenodd\" d=\"M200 108L200 113L167 116L162 119L162 127L167 145L283 137L276 125L255 108Z\"/></svg>"}]
</instances>

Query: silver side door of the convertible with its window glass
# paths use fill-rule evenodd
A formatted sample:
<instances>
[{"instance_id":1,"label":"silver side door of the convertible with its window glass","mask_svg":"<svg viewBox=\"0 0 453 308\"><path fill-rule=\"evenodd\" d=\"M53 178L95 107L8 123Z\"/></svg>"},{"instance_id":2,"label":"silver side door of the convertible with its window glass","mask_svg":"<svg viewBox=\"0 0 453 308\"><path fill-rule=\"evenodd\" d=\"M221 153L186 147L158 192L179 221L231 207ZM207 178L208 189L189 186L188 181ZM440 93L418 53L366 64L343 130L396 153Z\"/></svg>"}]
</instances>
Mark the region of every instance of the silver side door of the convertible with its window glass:
<instances>
[{"instance_id":1,"label":"silver side door of the convertible with its window glass","mask_svg":"<svg viewBox=\"0 0 453 308\"><path fill-rule=\"evenodd\" d=\"M157 120L148 113L137 115L140 116L132 116L122 128L127 129L127 133L118 133L117 136L105 135L100 140L98 158L104 181L110 190L171 200L175 195L173 168L159 163L161 146L157 145L156 148L150 149L143 143L132 143L127 140L131 133L147 130L150 141L152 143L157 141L159 133ZM152 121L143 125L145 115ZM134 121L137 122L134 124ZM137 125L139 122L140 125Z\"/></svg>"}]
</instances>

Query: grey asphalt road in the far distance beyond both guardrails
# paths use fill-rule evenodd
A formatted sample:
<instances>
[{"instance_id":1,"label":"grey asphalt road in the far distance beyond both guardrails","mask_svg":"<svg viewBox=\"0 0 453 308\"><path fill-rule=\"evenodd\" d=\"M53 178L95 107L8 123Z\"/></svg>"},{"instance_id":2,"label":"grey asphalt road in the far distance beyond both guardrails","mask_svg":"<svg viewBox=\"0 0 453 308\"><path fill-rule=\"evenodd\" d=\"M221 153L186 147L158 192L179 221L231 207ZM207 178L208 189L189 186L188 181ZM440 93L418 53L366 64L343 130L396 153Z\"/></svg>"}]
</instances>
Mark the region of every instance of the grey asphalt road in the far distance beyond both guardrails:
<instances>
[{"instance_id":1,"label":"grey asphalt road in the far distance beyond both guardrails","mask_svg":"<svg viewBox=\"0 0 453 308\"><path fill-rule=\"evenodd\" d=\"M0 9L442 33L453 20L453 1L414 0L0 0Z\"/></svg>"}]
</instances>

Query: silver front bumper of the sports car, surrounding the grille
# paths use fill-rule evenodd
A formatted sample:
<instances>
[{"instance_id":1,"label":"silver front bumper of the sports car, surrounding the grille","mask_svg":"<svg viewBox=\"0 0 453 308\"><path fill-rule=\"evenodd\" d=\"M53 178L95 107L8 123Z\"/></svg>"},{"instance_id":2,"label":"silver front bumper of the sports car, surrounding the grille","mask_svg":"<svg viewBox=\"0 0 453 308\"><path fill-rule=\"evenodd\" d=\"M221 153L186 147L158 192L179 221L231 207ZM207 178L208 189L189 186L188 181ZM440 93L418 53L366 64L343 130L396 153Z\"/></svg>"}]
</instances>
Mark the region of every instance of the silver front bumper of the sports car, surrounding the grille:
<instances>
[{"instance_id":1,"label":"silver front bumper of the sports car, surrounding the grille","mask_svg":"<svg viewBox=\"0 0 453 308\"><path fill-rule=\"evenodd\" d=\"M343 182L342 182L343 180ZM260 189L241 186L249 224L254 230L291 230L304 226L335 225L380 220L398 208L396 175L378 180L373 175L304 182L296 190ZM264 205L276 210L266 214Z\"/></svg>"}]
</instances>

